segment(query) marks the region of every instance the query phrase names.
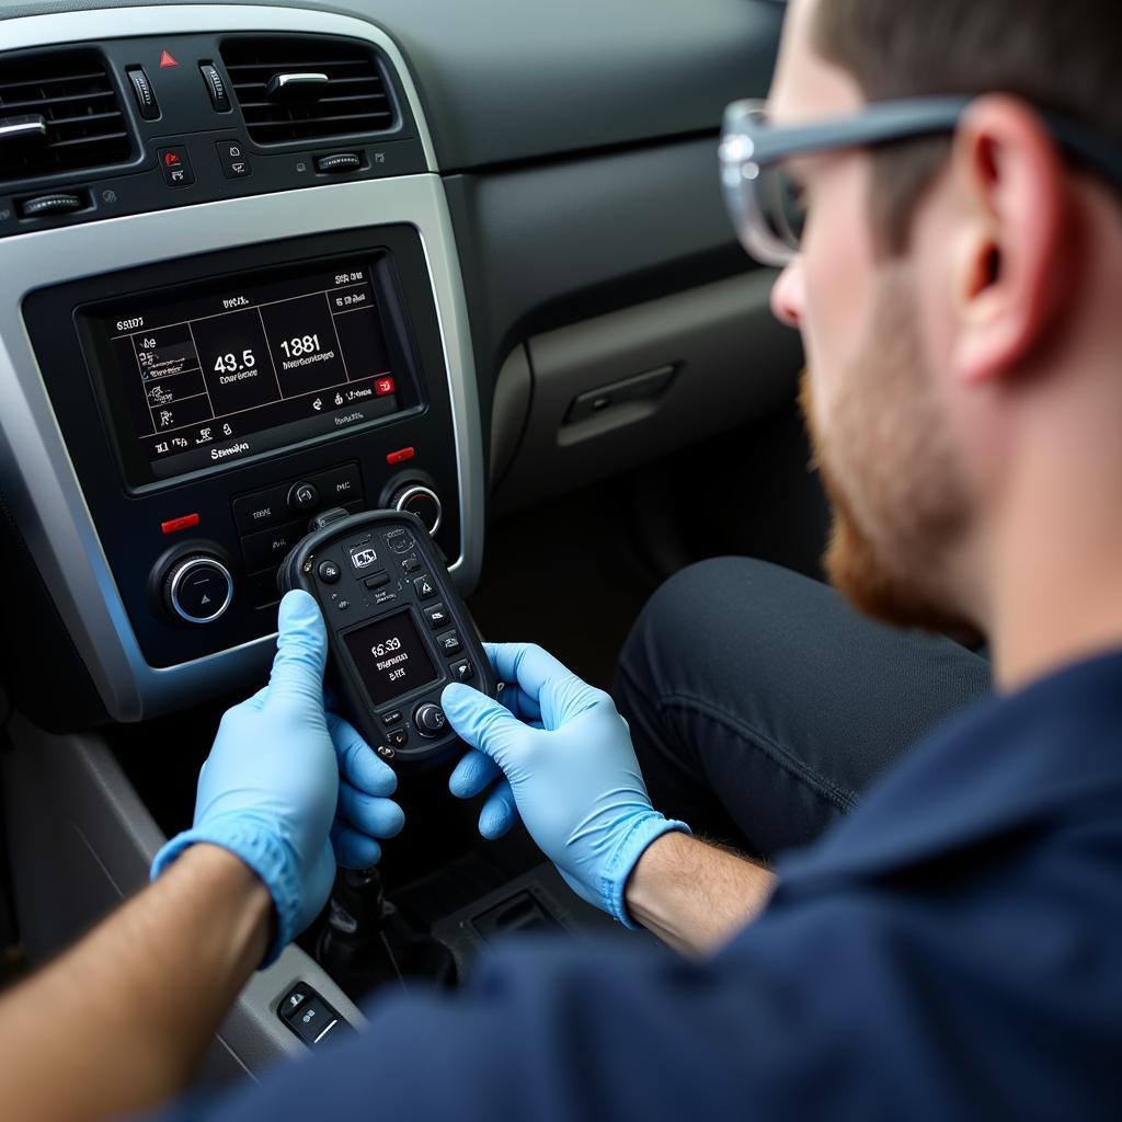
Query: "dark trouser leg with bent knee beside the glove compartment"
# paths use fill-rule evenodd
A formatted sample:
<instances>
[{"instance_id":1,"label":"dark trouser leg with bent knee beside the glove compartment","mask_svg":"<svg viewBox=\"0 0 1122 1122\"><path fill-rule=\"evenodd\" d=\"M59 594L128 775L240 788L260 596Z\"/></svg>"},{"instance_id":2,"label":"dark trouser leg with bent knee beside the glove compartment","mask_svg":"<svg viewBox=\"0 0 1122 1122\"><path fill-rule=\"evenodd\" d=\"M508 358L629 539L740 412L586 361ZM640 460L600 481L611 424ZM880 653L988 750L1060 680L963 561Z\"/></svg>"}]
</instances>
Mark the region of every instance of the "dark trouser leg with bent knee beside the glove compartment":
<instances>
[{"instance_id":1,"label":"dark trouser leg with bent knee beside the glove compartment","mask_svg":"<svg viewBox=\"0 0 1122 1122\"><path fill-rule=\"evenodd\" d=\"M726 558L655 592L613 693L654 806L770 861L988 689L988 662L957 643L881 627L825 585Z\"/></svg>"}]
</instances>

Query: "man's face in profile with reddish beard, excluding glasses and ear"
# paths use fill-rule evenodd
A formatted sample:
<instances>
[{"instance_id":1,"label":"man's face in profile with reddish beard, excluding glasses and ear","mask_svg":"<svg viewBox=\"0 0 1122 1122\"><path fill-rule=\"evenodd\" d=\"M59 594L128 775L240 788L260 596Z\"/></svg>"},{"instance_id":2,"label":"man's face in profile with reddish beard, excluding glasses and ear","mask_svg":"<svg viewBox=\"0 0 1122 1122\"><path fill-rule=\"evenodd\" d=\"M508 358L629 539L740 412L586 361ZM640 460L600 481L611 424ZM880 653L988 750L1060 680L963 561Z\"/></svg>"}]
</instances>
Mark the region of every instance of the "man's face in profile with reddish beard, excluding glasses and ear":
<instances>
[{"instance_id":1,"label":"man's face in profile with reddish beard, excluding glasses and ear","mask_svg":"<svg viewBox=\"0 0 1122 1122\"><path fill-rule=\"evenodd\" d=\"M816 4L789 8L769 101L778 125L856 113L864 103L854 79L813 49ZM808 223L802 255L772 303L806 346L802 405L834 505L830 579L891 623L960 626L948 576L968 503L946 390L932 371L938 350L929 340L940 313L919 279L926 239L903 258L879 258L866 154L795 160L789 169L804 191Z\"/></svg>"}]
</instances>

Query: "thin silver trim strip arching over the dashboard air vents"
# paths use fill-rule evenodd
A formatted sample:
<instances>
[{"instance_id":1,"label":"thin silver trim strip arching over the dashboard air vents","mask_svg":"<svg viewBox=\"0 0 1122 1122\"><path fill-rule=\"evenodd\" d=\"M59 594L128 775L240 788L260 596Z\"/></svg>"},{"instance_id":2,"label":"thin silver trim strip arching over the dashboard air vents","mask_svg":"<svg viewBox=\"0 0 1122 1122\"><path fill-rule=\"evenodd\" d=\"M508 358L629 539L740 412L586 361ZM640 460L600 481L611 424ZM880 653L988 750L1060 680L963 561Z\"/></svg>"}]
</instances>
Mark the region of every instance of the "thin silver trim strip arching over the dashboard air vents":
<instances>
[{"instance_id":1,"label":"thin silver trim strip arching over the dashboard air vents","mask_svg":"<svg viewBox=\"0 0 1122 1122\"><path fill-rule=\"evenodd\" d=\"M380 47L393 64L402 92L413 110L417 136L430 171L438 171L421 99L397 44L380 28L352 16L305 8L266 8L260 4L166 4L140 8L98 8L46 16L0 19L3 50L52 46L59 43L98 43L147 35L200 35L234 31L305 31L312 35L349 35Z\"/></svg>"}]
</instances>

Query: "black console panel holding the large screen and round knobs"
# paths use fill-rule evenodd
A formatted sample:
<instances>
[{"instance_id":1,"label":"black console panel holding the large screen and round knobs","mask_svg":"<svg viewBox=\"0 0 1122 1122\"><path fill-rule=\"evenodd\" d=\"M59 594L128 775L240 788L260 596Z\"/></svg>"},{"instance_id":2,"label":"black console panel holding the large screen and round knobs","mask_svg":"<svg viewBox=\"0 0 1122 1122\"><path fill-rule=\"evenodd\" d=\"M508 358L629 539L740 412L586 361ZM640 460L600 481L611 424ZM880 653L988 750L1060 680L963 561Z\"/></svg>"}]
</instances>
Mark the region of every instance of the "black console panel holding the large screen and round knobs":
<instances>
[{"instance_id":1,"label":"black console panel holding the large screen and round knobs","mask_svg":"<svg viewBox=\"0 0 1122 1122\"><path fill-rule=\"evenodd\" d=\"M448 375L415 230L59 285L27 300L25 322L150 666L274 632L277 569L321 509L411 511L459 557Z\"/></svg>"}]
</instances>

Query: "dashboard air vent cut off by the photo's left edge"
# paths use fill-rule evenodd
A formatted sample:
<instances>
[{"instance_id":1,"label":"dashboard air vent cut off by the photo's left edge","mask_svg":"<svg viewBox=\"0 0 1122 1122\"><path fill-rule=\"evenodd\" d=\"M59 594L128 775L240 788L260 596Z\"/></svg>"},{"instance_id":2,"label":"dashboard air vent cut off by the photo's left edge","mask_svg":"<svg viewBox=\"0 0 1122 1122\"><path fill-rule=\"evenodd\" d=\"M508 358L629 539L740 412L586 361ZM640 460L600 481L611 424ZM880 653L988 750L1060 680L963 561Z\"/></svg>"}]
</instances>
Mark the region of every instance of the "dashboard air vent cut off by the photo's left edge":
<instances>
[{"instance_id":1,"label":"dashboard air vent cut off by the photo's left edge","mask_svg":"<svg viewBox=\"0 0 1122 1122\"><path fill-rule=\"evenodd\" d=\"M0 66L0 180L56 175L132 154L117 89L92 50L6 58Z\"/></svg>"}]
</instances>

